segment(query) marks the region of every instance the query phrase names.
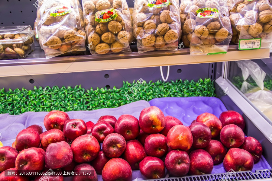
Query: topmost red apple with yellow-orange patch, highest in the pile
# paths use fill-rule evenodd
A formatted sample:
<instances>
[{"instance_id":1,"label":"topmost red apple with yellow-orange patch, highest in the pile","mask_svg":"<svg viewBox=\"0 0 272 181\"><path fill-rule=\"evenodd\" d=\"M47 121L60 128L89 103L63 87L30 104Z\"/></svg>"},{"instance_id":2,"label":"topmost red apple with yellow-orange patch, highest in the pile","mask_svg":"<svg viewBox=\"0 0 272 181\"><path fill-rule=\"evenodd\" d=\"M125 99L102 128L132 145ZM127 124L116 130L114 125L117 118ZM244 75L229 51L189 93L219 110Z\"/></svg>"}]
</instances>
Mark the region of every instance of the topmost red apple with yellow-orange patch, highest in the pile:
<instances>
[{"instance_id":1,"label":"topmost red apple with yellow-orange patch, highest in the pile","mask_svg":"<svg viewBox=\"0 0 272 181\"><path fill-rule=\"evenodd\" d=\"M144 108L140 113L139 126L148 134L162 131L165 127L164 113L156 106Z\"/></svg>"}]
</instances>

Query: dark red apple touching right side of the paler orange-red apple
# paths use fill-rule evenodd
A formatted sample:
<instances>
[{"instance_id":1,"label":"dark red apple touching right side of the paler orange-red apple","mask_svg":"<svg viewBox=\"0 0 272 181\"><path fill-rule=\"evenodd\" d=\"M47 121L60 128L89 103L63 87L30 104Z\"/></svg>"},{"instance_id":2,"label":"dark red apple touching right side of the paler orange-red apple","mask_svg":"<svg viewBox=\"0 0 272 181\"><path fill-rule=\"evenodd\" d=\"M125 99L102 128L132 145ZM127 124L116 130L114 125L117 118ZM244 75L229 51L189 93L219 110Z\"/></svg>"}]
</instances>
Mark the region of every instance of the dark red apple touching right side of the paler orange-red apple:
<instances>
[{"instance_id":1,"label":"dark red apple touching right side of the paler orange-red apple","mask_svg":"<svg viewBox=\"0 0 272 181\"><path fill-rule=\"evenodd\" d=\"M193 135L193 147L194 148L205 148L209 145L212 139L211 130L208 126L200 122L194 122L189 125Z\"/></svg>"}]
</instances>

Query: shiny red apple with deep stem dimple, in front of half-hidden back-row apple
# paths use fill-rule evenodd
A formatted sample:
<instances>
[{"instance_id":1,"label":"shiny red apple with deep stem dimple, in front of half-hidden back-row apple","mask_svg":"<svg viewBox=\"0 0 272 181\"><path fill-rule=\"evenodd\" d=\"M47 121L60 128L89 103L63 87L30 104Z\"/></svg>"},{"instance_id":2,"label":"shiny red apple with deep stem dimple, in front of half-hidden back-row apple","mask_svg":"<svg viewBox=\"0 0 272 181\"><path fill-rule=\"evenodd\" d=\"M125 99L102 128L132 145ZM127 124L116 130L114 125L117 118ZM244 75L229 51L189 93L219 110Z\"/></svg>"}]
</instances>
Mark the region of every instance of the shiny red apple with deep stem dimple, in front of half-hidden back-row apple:
<instances>
[{"instance_id":1,"label":"shiny red apple with deep stem dimple, in front of half-hidden back-row apple","mask_svg":"<svg viewBox=\"0 0 272 181\"><path fill-rule=\"evenodd\" d=\"M106 136L113 133L114 129L109 122L99 121L91 129L92 135L97 139L99 143L102 143Z\"/></svg>"}]
</instances>

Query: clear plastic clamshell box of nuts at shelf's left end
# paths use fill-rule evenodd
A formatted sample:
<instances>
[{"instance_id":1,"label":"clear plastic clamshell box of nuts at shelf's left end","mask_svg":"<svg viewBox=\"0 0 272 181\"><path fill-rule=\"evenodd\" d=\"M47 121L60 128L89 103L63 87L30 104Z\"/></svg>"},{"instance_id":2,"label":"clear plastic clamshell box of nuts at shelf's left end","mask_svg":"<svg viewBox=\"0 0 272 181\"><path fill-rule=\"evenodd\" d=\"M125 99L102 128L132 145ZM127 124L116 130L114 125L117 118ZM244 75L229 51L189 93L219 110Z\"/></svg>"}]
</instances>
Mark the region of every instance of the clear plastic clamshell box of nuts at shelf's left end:
<instances>
[{"instance_id":1,"label":"clear plastic clamshell box of nuts at shelf's left end","mask_svg":"<svg viewBox=\"0 0 272 181\"><path fill-rule=\"evenodd\" d=\"M30 25L0 27L0 59L24 59L34 50Z\"/></svg>"}]
</instances>

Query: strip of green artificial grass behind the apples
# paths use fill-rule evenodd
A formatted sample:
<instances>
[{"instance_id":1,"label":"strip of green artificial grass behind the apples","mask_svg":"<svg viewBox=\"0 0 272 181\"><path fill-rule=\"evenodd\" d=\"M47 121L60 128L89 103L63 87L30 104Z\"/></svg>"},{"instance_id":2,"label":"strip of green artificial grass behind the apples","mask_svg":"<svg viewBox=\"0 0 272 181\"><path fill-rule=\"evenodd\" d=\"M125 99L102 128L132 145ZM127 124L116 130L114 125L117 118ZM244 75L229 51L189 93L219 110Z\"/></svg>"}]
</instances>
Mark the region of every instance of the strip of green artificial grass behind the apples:
<instances>
[{"instance_id":1,"label":"strip of green artificial grass behind the apples","mask_svg":"<svg viewBox=\"0 0 272 181\"><path fill-rule=\"evenodd\" d=\"M214 82L210 79L198 81L144 82L137 93L135 84L123 82L120 89L97 88L85 90L81 86L72 87L34 87L34 90L0 89L0 113L18 115L27 111L79 111L114 108L137 100L152 100L159 97L216 97ZM136 92L136 91L134 91ZM128 98L125 94L128 94ZM129 98L131 97L131 98Z\"/></svg>"}]
</instances>

